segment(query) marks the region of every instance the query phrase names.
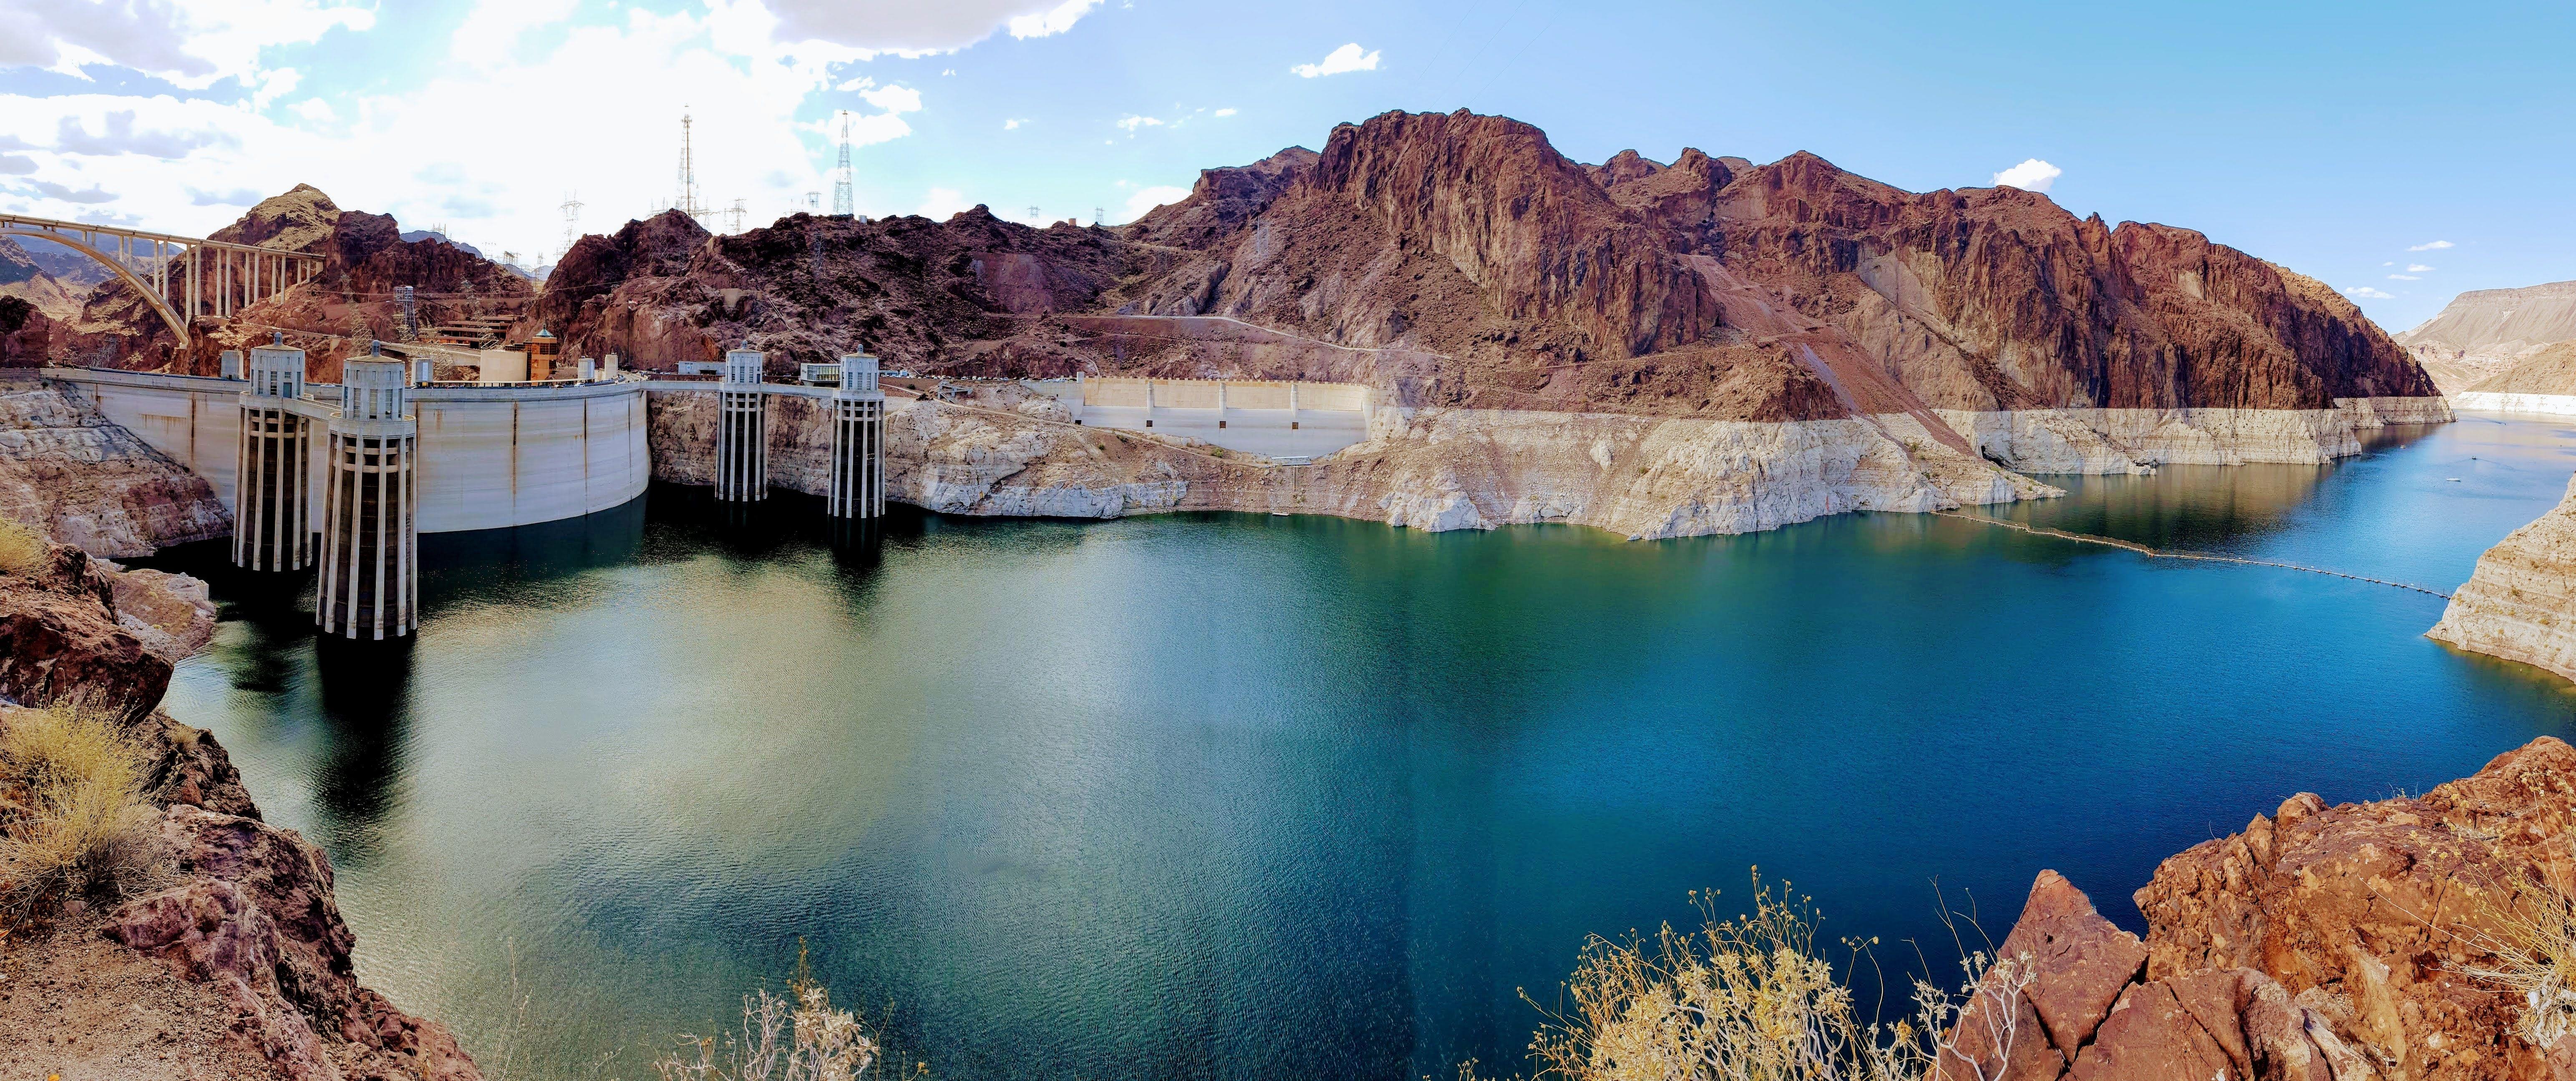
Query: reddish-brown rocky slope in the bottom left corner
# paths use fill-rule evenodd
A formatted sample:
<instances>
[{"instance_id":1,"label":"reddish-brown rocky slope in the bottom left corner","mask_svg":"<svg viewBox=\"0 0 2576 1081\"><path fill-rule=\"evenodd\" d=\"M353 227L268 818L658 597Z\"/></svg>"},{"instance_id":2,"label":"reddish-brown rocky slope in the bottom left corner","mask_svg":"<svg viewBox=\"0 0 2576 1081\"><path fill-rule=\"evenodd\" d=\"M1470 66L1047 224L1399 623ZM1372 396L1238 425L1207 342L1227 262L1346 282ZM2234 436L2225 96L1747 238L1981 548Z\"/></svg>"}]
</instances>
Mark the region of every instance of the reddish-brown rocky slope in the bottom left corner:
<instances>
[{"instance_id":1,"label":"reddish-brown rocky slope in the bottom left corner","mask_svg":"<svg viewBox=\"0 0 2576 1081\"><path fill-rule=\"evenodd\" d=\"M75 901L0 937L0 1076L477 1081L443 1027L358 986L322 849L260 821L214 736L157 710L173 654L214 623L173 587L72 546L0 574L0 726L67 698L118 708L170 860L108 911Z\"/></svg>"}]
</instances>

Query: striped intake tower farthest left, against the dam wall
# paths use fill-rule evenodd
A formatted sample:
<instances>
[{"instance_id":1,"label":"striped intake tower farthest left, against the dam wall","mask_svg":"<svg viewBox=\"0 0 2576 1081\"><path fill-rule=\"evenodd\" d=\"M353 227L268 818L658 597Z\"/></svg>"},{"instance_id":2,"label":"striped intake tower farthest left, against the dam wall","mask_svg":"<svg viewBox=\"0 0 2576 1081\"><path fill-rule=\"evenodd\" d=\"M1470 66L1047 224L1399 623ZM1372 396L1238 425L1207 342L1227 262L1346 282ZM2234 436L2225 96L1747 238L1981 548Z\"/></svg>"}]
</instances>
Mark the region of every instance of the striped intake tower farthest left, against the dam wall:
<instances>
[{"instance_id":1,"label":"striped intake tower farthest left, against the dam wall","mask_svg":"<svg viewBox=\"0 0 2576 1081\"><path fill-rule=\"evenodd\" d=\"M227 358L240 363L237 353ZM232 566L301 571L312 561L312 417L296 409L304 399L304 350L276 335L250 350L247 378L232 468Z\"/></svg>"}]
</instances>

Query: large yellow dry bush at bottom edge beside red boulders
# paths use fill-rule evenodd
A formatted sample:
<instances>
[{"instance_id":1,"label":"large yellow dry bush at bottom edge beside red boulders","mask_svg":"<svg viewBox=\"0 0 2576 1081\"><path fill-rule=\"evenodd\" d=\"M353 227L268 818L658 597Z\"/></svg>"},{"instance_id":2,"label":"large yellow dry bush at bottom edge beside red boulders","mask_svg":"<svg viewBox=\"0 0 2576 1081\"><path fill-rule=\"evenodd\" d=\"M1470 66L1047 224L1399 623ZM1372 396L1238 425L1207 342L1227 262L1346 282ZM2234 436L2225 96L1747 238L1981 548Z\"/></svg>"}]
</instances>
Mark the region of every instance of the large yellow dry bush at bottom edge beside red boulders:
<instances>
[{"instance_id":1,"label":"large yellow dry bush at bottom edge beside red boulders","mask_svg":"<svg viewBox=\"0 0 2576 1081\"><path fill-rule=\"evenodd\" d=\"M1543 1078L1919 1081L1942 1073L1937 1066L1976 1078L2032 1037L2012 1024L2030 986L2027 957L1971 952L1963 996L1914 981L1914 1017L1878 1024L1862 1022L1847 983L1875 939L1844 942L1850 960L1837 973L1816 950L1814 906L1793 901L1785 883L1772 893L1759 875L1754 911L1741 919L1716 919L1713 893L1692 893L1692 903L1708 914L1698 932L1664 924L1651 939L1584 945L1566 981L1574 1009L1548 1012L1530 1042ZM1963 1014L1971 1022L1955 1024ZM1978 1040L1958 1048L1953 1027Z\"/></svg>"}]
</instances>

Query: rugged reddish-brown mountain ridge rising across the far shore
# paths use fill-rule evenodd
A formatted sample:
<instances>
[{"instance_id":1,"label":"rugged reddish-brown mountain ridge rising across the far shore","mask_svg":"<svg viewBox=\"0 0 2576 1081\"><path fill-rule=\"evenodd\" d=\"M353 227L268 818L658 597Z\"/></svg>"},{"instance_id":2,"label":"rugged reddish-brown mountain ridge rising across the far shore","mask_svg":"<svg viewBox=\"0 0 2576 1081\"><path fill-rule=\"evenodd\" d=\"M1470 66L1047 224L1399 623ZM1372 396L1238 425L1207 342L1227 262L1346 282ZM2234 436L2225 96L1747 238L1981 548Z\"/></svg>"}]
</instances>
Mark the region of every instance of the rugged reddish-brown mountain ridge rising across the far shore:
<instances>
[{"instance_id":1,"label":"rugged reddish-brown mountain ridge rising across the far shore","mask_svg":"<svg viewBox=\"0 0 2576 1081\"><path fill-rule=\"evenodd\" d=\"M1337 456L1347 512L1631 535L2053 492L2012 471L2316 463L2450 420L2349 301L2190 229L1814 154L1582 165L1473 113L1345 124L1121 229L665 214L574 245L538 327L641 368L750 345L778 373L866 347L940 376L1352 381L1383 409ZM1674 420L1700 427L1643 435Z\"/></svg>"}]
</instances>

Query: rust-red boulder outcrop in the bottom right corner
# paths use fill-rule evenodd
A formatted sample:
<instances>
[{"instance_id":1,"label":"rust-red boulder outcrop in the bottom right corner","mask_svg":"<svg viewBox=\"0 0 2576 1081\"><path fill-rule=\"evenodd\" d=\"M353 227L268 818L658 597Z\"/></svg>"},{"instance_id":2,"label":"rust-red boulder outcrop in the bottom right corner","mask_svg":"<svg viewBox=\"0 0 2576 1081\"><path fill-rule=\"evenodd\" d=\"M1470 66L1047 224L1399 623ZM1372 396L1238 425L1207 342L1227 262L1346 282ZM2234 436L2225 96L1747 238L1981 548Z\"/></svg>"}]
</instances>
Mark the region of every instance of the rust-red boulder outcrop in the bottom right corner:
<instances>
[{"instance_id":1,"label":"rust-red boulder outcrop in the bottom right corner","mask_svg":"<svg viewBox=\"0 0 2576 1081\"><path fill-rule=\"evenodd\" d=\"M2020 1019L1971 1017L1945 1076L2566 1081L2576 1037L2530 1045L2527 1004L2470 970L2496 965L2499 914L2576 893L2571 826L2576 749L2543 736L2416 798L2300 793L2174 855L2136 896L2143 939L2040 873L2002 945L2035 963Z\"/></svg>"}]
</instances>

